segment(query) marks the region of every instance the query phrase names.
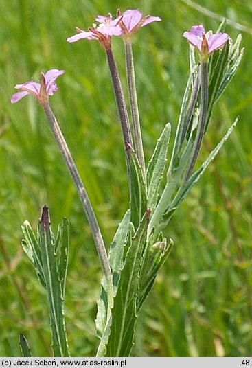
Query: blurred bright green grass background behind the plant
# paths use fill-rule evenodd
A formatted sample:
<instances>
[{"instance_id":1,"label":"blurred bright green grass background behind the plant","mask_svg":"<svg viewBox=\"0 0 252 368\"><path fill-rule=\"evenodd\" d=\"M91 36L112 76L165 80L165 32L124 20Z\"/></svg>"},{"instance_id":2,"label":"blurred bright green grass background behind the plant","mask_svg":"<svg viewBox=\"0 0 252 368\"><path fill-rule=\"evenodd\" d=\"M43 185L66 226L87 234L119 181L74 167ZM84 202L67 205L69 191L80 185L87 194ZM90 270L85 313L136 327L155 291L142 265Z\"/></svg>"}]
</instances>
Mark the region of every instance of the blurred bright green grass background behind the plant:
<instances>
[{"instance_id":1,"label":"blurred bright green grass background behind the plant","mask_svg":"<svg viewBox=\"0 0 252 368\"><path fill-rule=\"evenodd\" d=\"M181 205L165 235L175 246L139 314L134 356L249 356L252 353L251 71L250 0L0 0L0 356L20 356L19 332L34 356L48 356L50 330L45 291L21 249L21 224L34 229L41 208L52 228L67 216L71 251L66 322L72 356L93 356L96 300L102 271L78 194L43 110L34 97L10 104L14 85L38 80L41 71L65 69L51 98L100 222L106 244L128 208L128 183L120 126L104 50L96 41L69 44L98 14L139 8L161 23L134 39L139 110L146 161L166 122L173 138L187 80L192 25L216 30L210 13L235 22L246 48L240 69L221 97L199 161L240 122L201 181ZM126 87L124 45L113 39ZM171 150L169 151L169 154Z\"/></svg>"}]
</instances>

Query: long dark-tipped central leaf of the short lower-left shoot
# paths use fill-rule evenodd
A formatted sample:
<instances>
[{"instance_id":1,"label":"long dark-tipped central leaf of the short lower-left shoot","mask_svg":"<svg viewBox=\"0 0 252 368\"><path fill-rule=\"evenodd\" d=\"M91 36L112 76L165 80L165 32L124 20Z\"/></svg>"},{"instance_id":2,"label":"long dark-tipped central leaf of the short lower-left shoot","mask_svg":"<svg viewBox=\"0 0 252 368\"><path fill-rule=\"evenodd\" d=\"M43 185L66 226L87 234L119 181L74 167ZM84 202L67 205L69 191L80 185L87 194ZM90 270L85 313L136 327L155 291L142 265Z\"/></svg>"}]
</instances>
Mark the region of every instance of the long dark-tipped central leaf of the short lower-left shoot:
<instances>
[{"instance_id":1,"label":"long dark-tipped central leaf of the short lower-left shoot","mask_svg":"<svg viewBox=\"0 0 252 368\"><path fill-rule=\"evenodd\" d=\"M69 356L67 333L65 329L62 284L60 282L60 275L57 267L54 242L51 238L49 210L46 206L43 207L41 220L38 223L38 231L41 242L41 259L49 301L52 348L54 350L54 356Z\"/></svg>"}]
</instances>

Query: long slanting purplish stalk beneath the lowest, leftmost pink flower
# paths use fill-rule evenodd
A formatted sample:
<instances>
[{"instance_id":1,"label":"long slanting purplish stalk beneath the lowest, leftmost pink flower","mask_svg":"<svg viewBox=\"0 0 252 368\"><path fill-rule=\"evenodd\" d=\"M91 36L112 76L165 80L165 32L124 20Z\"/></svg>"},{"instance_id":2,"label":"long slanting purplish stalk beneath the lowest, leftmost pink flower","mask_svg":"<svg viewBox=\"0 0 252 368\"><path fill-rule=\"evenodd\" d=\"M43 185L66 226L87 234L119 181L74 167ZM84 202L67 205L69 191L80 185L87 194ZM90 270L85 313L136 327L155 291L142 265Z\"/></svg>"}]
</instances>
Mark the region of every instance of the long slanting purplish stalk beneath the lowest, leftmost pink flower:
<instances>
[{"instance_id":1,"label":"long slanting purplish stalk beneath the lowest, leftmost pink flower","mask_svg":"<svg viewBox=\"0 0 252 368\"><path fill-rule=\"evenodd\" d=\"M108 283L110 301L112 302L113 301L113 282L112 282L111 268L109 266L108 255L106 253L104 240L102 238L102 233L98 225L98 220L95 216L95 212L93 211L93 207L91 205L89 196L87 194L87 190L84 187L84 184L82 183L82 179L80 177L78 169L76 168L76 163L73 161L73 157L71 156L71 152L69 151L67 142L65 141L65 138L62 135L62 132L60 130L60 126L58 125L56 117L54 116L54 113L51 111L51 107L49 106L49 104L47 104L47 106L44 106L44 109L45 109L45 114L47 115L49 124L51 126L51 129L54 133L54 137L58 143L60 151L62 152L65 162L67 163L67 167L69 168L69 171L71 172L73 181L76 184L78 194L80 196L80 200L82 201L82 205L84 207L84 211L86 213L87 220L89 221L89 225L93 233L93 239L95 240L96 249L100 257L100 262L102 264L104 275Z\"/></svg>"}]
</instances>

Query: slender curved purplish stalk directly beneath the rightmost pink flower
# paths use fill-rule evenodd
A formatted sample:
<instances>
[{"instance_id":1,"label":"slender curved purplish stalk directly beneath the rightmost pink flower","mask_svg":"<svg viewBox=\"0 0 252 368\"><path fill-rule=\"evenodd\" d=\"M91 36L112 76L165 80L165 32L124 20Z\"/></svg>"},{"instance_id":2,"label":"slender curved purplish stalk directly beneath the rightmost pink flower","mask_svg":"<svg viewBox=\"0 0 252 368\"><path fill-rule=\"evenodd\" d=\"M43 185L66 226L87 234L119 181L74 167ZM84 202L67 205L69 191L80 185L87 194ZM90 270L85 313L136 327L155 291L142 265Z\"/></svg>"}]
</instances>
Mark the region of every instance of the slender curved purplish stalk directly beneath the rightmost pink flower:
<instances>
[{"instance_id":1,"label":"slender curved purplish stalk directly beneath the rightmost pink flower","mask_svg":"<svg viewBox=\"0 0 252 368\"><path fill-rule=\"evenodd\" d=\"M184 181L186 182L194 170L194 165L198 157L198 152L201 148L203 136L205 133L205 124L207 122L207 105L208 105L208 84L207 84L207 62L201 62L201 108L200 116L198 119L198 129L194 142L194 148L192 150L192 156L190 158L187 172L185 174Z\"/></svg>"}]
</instances>

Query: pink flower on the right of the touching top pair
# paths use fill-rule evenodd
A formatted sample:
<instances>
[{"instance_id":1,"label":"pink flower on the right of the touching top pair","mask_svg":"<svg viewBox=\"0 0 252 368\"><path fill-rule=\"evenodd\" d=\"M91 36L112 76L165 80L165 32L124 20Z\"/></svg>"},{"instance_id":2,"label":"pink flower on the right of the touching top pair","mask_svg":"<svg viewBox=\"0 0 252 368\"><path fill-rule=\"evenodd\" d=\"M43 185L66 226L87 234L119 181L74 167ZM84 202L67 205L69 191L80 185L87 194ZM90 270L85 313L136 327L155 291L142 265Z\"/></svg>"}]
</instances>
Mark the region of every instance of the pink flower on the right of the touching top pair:
<instances>
[{"instance_id":1,"label":"pink flower on the right of the touching top pair","mask_svg":"<svg viewBox=\"0 0 252 368\"><path fill-rule=\"evenodd\" d=\"M120 13L118 12L117 15L120 15ZM122 27L124 37L131 38L140 27L144 27L155 21L159 22L161 18L159 18L159 16L143 16L137 9L128 9L122 14L119 25Z\"/></svg>"}]
</instances>

